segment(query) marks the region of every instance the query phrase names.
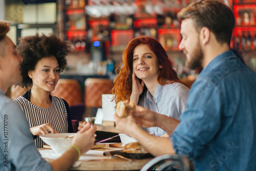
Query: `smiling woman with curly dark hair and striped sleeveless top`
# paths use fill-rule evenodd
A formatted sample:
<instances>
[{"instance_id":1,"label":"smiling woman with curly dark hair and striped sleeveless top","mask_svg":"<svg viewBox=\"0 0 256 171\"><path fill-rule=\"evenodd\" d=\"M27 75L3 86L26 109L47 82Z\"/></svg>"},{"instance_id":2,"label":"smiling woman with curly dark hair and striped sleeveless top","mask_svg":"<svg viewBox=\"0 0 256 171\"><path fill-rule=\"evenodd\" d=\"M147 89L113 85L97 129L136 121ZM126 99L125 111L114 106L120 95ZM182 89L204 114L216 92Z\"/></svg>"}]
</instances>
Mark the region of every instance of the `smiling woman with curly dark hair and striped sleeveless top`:
<instances>
[{"instance_id":1,"label":"smiling woman with curly dark hair and striped sleeveless top","mask_svg":"<svg viewBox=\"0 0 256 171\"><path fill-rule=\"evenodd\" d=\"M67 101L50 95L67 65L71 46L54 34L36 34L19 38L16 50L23 57L23 81L17 85L32 88L14 101L25 112L36 147L42 147L40 135L73 132Z\"/></svg>"}]
</instances>

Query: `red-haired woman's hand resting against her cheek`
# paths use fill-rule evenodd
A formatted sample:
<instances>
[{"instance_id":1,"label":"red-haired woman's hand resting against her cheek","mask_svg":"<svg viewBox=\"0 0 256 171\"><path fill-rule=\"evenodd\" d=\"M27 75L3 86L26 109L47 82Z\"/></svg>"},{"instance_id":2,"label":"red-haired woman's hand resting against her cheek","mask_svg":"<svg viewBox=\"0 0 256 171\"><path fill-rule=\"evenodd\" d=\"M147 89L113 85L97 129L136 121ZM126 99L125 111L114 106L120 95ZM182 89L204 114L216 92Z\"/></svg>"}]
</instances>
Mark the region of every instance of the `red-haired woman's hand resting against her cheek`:
<instances>
[{"instance_id":1,"label":"red-haired woman's hand resting against her cheek","mask_svg":"<svg viewBox=\"0 0 256 171\"><path fill-rule=\"evenodd\" d=\"M133 88L132 88L132 94L130 97L130 102L133 101L135 104L138 104L139 96L143 92L145 83L144 81L141 81L140 83L134 71L133 71L132 79L133 79Z\"/></svg>"}]
</instances>

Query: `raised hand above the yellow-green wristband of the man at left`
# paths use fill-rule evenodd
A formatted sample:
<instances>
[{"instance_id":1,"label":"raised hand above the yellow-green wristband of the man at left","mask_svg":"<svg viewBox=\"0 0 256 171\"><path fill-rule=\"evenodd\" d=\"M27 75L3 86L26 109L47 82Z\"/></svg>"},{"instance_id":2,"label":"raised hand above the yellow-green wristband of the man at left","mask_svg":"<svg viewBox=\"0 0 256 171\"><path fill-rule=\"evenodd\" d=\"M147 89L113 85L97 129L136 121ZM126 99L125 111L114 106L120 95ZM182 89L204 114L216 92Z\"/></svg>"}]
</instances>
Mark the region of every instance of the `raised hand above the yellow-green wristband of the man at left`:
<instances>
[{"instance_id":1,"label":"raised hand above the yellow-green wristband of the man at left","mask_svg":"<svg viewBox=\"0 0 256 171\"><path fill-rule=\"evenodd\" d=\"M94 145L94 134L96 129L96 126L92 125L90 122L87 122L74 137L72 144L76 145L80 149L81 155L86 153Z\"/></svg>"}]
</instances>

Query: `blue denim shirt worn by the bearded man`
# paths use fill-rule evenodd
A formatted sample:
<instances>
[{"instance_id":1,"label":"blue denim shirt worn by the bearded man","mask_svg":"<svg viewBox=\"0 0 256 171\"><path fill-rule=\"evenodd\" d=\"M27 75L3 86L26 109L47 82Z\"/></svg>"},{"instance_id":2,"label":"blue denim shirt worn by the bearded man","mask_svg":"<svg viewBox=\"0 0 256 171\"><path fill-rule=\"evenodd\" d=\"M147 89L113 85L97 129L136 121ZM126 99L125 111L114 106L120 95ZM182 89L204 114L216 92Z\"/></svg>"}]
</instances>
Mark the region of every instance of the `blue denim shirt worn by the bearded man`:
<instances>
[{"instance_id":1,"label":"blue denim shirt worn by the bearded man","mask_svg":"<svg viewBox=\"0 0 256 171\"><path fill-rule=\"evenodd\" d=\"M256 170L256 74L232 51L202 70L170 140L196 170Z\"/></svg>"}]
</instances>

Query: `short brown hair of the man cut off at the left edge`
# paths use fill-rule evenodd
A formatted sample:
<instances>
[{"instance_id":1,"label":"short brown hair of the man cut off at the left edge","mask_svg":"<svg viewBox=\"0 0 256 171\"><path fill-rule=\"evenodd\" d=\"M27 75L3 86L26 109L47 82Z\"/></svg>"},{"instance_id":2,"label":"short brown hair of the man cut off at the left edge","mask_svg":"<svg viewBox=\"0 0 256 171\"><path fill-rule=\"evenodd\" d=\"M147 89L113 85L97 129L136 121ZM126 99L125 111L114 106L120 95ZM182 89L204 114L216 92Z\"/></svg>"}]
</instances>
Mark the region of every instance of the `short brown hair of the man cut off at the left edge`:
<instances>
[{"instance_id":1,"label":"short brown hair of the man cut off at the left edge","mask_svg":"<svg viewBox=\"0 0 256 171\"><path fill-rule=\"evenodd\" d=\"M10 30L10 23L0 20L0 56L5 56L6 34Z\"/></svg>"}]
</instances>

